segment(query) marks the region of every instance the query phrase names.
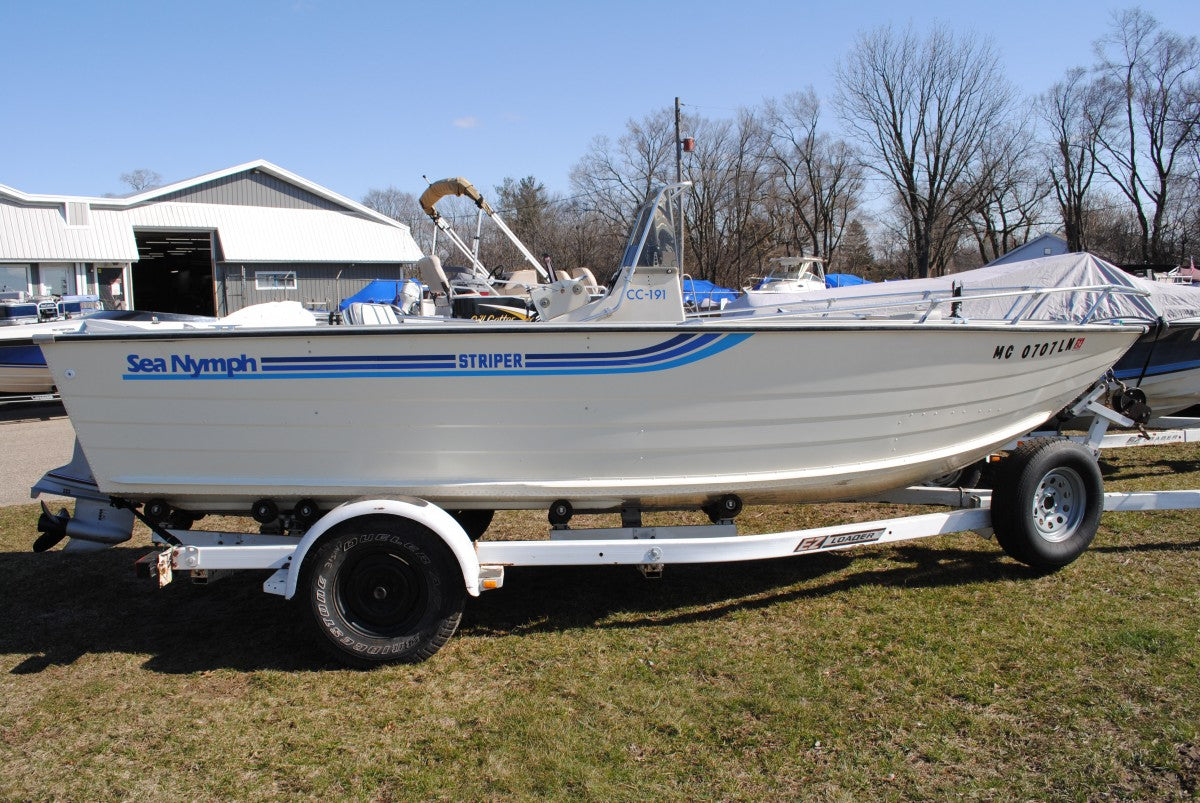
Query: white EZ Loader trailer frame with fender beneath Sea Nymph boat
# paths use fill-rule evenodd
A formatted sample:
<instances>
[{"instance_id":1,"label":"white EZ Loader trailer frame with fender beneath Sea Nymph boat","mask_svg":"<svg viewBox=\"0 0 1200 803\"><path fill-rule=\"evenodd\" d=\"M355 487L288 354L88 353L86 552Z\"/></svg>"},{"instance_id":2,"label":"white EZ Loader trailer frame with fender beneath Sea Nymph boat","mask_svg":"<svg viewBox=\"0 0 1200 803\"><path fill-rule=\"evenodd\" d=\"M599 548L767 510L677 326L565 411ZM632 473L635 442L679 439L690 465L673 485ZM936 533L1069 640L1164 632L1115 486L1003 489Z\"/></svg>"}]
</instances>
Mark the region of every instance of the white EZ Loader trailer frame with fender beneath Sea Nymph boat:
<instances>
[{"instance_id":1,"label":"white EZ Loader trailer frame with fender beneath Sea Nymph boat","mask_svg":"<svg viewBox=\"0 0 1200 803\"><path fill-rule=\"evenodd\" d=\"M950 504L960 509L755 535L738 535L737 526L730 522L563 529L551 531L550 540L472 543L449 514L433 505L424 505L424 510L437 510L445 517L434 514L426 516L422 523L454 550L463 570L467 592L473 597L482 591L500 588L504 585L504 570L510 567L632 565L647 574L655 574L673 564L802 557L961 532L991 537L991 493L986 490L911 487L886 499L898 504ZM198 573L199 579L206 581L212 579L211 573L274 570L263 583L263 591L292 599L296 593L299 568L304 558L329 528L366 513L412 519L414 509L410 505L409 502L396 499L348 503L328 514L328 522L318 522L299 541L286 535L172 529L168 532L180 544L168 545L155 535L155 541L166 549L148 557L155 561L161 585L170 582L175 571ZM1110 491L1104 495L1105 511L1198 509L1200 490L1135 493Z\"/></svg>"}]
</instances>

